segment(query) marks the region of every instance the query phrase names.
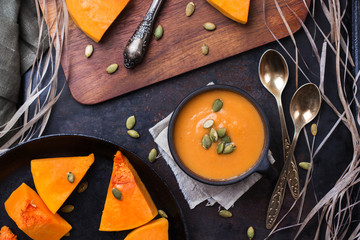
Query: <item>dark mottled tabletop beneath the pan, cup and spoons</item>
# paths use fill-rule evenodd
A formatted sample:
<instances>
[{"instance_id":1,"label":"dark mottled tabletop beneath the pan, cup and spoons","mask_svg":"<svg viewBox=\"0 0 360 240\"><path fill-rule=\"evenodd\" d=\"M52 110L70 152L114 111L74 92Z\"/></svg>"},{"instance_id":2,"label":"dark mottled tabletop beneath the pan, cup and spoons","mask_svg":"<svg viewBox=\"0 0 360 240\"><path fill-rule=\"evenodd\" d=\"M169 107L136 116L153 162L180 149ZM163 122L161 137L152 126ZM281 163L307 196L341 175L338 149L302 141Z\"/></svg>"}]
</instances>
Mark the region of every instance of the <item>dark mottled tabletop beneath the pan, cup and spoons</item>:
<instances>
[{"instance_id":1,"label":"dark mottled tabletop beneath the pan, cup and spoons","mask_svg":"<svg viewBox=\"0 0 360 240\"><path fill-rule=\"evenodd\" d=\"M350 22L348 20L349 18L350 17L347 16L345 20L347 24ZM328 28L328 24L322 14L319 13L317 19L320 25L326 29ZM308 18L306 23L313 34L314 27L312 21ZM351 27L349 29L351 29ZM319 32L316 31L316 34L319 34ZM298 40L302 57L306 60L308 66L312 67L314 73L318 75L319 68L317 67L317 61L306 40L306 35L300 30L295 34L295 37ZM321 49L322 38L317 37L316 40L318 47ZM294 51L290 38L283 39L281 42L290 52ZM173 173L164 159L160 158L151 164L147 161L147 157L150 149L156 147L148 129L172 112L186 95L195 89L205 86L208 82L213 81L216 84L228 84L247 91L263 107L270 123L270 150L277 159L275 166L280 170L283 159L280 122L276 102L272 95L263 88L258 78L258 61L262 53L269 48L280 51L289 64L290 78L283 94L283 102L289 134L292 136L293 125L288 109L291 96L295 91L295 65L290 58L286 56L286 53L278 43L271 43L253 49L97 105L86 106L77 103L72 98L66 86L59 101L53 108L45 135L77 133L101 137L137 154L170 186L170 190L183 210L189 230L189 239L191 240L247 239L246 230L249 226L255 228L255 239L264 239L269 233L269 231L265 229L265 215L269 198L275 184L274 182L266 178L260 180L230 209L233 217L224 219L218 215L218 205L206 207L205 203L202 203L195 209L190 210ZM212 51L216 51L216 49ZM329 54L327 61L329 63L328 68L333 68L334 66L331 64L331 59L333 59L334 56L330 55L331 54ZM318 83L318 78L315 75L309 75L315 83ZM60 79L60 85L62 85L65 81L62 73ZM305 78L300 75L299 83L303 84L305 82ZM336 95L336 81L334 76L326 76L325 91L330 96ZM335 98L335 103L339 104L337 98ZM130 115L136 116L136 129L139 130L141 134L139 139L132 139L127 135L125 121ZM337 117L332 110L330 110L326 104L323 104L318 137L315 142L316 146L336 120ZM309 126L307 126L307 129L309 131ZM309 161L304 134L300 135L297 146L295 151L297 161ZM319 199L333 186L351 159L351 156L352 145L350 134L345 127L340 124L314 160L313 184L310 184L308 190L304 212L308 212L314 205L314 193ZM303 186L306 172L302 169L299 171L301 186ZM280 217L290 208L292 203L293 199L289 191L287 191ZM297 209L297 207L295 207L295 209ZM296 217L297 211L293 211L285 223L294 224ZM310 224L300 239L312 239L315 224L316 223ZM272 239L291 239L295 233L296 229L289 229L278 233Z\"/></svg>"}]
</instances>

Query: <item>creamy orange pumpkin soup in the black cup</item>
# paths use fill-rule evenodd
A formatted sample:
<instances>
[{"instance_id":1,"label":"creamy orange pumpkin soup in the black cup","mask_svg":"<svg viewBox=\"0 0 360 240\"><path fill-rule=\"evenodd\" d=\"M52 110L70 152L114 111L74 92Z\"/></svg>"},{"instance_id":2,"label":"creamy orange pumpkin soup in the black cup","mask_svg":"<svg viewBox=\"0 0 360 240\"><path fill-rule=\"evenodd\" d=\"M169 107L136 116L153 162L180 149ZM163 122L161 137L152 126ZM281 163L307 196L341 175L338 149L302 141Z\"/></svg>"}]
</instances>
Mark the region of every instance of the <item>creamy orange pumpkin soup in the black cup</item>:
<instances>
[{"instance_id":1,"label":"creamy orange pumpkin soup in the black cup","mask_svg":"<svg viewBox=\"0 0 360 240\"><path fill-rule=\"evenodd\" d=\"M221 99L220 111L212 110L213 102ZM218 154L219 140L209 149L201 144L205 134L203 123L213 119L213 128L226 128L236 145L230 154ZM265 144L265 127L255 106L242 95L228 90L211 90L189 100L180 110L174 125L174 145L181 162L190 171L209 180L228 180L250 170L257 162Z\"/></svg>"}]
</instances>

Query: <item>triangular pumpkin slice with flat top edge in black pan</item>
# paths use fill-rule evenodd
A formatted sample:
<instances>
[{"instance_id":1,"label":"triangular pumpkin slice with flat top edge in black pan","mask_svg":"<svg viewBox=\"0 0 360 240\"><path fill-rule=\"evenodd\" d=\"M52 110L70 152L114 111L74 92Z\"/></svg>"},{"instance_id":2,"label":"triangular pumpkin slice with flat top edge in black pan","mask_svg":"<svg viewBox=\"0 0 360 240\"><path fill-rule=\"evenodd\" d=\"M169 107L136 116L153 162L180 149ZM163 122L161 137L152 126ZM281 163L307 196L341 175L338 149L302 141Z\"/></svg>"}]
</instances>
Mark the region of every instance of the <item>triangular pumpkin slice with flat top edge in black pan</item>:
<instances>
[{"instance_id":1,"label":"triangular pumpkin slice with flat top edge in black pan","mask_svg":"<svg viewBox=\"0 0 360 240\"><path fill-rule=\"evenodd\" d=\"M93 162L94 154L31 161L31 173L36 190L52 213L59 210ZM74 176L72 183L68 179L69 174Z\"/></svg>"}]
</instances>

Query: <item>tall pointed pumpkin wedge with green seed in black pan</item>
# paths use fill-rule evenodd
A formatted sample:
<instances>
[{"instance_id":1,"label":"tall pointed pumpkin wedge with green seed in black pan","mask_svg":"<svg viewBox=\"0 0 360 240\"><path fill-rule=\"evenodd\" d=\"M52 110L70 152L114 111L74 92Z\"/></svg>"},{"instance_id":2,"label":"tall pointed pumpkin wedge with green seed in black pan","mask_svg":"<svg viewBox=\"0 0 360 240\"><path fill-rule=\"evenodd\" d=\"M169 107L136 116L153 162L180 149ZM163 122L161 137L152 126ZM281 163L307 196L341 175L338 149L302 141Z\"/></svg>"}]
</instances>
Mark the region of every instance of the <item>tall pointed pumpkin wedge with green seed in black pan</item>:
<instances>
[{"instance_id":1,"label":"tall pointed pumpkin wedge with green seed in black pan","mask_svg":"<svg viewBox=\"0 0 360 240\"><path fill-rule=\"evenodd\" d=\"M113 192L121 193L121 197ZM117 151L101 216L100 231L129 230L151 221L158 211L129 160Z\"/></svg>"}]
</instances>

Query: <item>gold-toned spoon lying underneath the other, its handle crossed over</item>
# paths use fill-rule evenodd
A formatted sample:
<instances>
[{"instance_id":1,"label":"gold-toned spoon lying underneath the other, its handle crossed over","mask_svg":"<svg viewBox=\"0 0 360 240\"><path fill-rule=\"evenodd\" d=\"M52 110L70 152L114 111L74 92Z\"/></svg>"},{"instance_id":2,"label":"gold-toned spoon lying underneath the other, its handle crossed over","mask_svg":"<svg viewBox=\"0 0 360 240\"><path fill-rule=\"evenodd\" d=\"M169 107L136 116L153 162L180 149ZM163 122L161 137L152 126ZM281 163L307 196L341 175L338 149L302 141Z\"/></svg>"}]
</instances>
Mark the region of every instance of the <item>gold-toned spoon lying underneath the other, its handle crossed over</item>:
<instances>
[{"instance_id":1,"label":"gold-toned spoon lying underneath the other, its handle crossed over","mask_svg":"<svg viewBox=\"0 0 360 240\"><path fill-rule=\"evenodd\" d=\"M275 97L279 109L281 135L283 142L284 161L289 154L290 140L286 127L281 94L289 78L289 70L284 57L273 49L269 49L261 56L259 77L264 87ZM294 156L288 169L288 185L294 199L299 198L299 173Z\"/></svg>"}]
</instances>

